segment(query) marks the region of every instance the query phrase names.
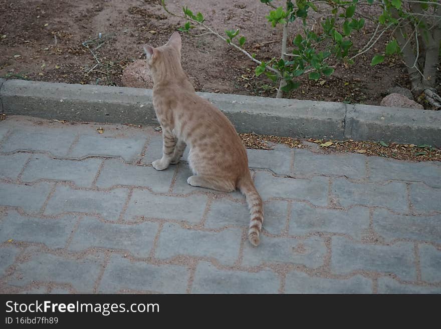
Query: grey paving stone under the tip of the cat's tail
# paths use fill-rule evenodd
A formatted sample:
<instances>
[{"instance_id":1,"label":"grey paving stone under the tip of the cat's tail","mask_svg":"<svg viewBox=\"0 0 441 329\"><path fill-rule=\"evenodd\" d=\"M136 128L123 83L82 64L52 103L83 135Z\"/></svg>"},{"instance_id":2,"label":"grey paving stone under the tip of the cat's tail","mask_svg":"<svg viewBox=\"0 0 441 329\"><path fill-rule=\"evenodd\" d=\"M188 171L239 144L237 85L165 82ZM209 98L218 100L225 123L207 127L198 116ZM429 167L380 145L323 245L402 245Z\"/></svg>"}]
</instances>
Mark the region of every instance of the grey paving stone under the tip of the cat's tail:
<instances>
[{"instance_id":1,"label":"grey paving stone under the tip of the cat's tail","mask_svg":"<svg viewBox=\"0 0 441 329\"><path fill-rule=\"evenodd\" d=\"M242 264L257 266L263 263L290 263L317 268L323 265L325 254L325 242L317 236L305 240L261 236L257 248L246 241Z\"/></svg>"}]
</instances>

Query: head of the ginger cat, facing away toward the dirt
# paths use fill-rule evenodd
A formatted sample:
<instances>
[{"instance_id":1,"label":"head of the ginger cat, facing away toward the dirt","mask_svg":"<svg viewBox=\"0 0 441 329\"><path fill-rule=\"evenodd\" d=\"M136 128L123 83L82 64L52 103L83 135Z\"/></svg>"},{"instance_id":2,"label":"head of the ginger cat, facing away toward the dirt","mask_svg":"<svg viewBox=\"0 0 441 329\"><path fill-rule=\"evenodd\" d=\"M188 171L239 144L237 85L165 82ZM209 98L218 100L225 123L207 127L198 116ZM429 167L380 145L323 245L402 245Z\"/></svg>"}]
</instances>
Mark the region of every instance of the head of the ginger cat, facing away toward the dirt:
<instances>
[{"instance_id":1,"label":"head of the ginger cat, facing away toward the dirt","mask_svg":"<svg viewBox=\"0 0 441 329\"><path fill-rule=\"evenodd\" d=\"M147 57L147 67L154 73L160 67L180 64L182 41L179 33L174 32L168 42L154 48L150 45L144 45L144 52Z\"/></svg>"}]
</instances>

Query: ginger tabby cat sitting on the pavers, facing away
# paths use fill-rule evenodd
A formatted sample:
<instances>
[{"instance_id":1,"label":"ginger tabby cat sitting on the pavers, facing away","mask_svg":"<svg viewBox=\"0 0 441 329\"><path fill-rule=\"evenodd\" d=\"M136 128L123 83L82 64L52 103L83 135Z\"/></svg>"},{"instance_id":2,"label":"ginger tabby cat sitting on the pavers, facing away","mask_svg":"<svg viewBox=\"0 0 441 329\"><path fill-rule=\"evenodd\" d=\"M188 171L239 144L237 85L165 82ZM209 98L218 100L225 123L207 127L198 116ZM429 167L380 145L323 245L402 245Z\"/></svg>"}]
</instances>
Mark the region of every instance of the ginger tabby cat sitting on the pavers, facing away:
<instances>
[{"instance_id":1,"label":"ginger tabby cat sitting on the pavers, facing away","mask_svg":"<svg viewBox=\"0 0 441 329\"><path fill-rule=\"evenodd\" d=\"M188 177L187 183L224 192L239 188L250 208L248 238L257 246L263 203L251 178L247 152L230 120L194 92L181 67L181 47L177 32L164 46L144 46L163 138L162 158L152 165L164 170L170 163L178 163L188 146L188 164L194 176Z\"/></svg>"}]
</instances>

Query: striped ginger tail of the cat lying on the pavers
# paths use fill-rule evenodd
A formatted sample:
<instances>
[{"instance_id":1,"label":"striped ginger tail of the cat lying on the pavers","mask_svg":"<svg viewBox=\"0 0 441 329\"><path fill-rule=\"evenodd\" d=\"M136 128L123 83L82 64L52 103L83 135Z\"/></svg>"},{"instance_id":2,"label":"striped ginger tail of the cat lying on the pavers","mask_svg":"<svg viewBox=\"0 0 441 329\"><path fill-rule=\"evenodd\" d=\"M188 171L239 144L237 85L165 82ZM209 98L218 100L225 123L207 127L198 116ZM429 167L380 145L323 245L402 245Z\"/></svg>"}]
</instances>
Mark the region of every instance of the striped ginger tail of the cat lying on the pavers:
<instances>
[{"instance_id":1,"label":"striped ginger tail of the cat lying on the pavers","mask_svg":"<svg viewBox=\"0 0 441 329\"><path fill-rule=\"evenodd\" d=\"M248 171L248 170L247 170ZM260 231L262 229L262 224L264 222L264 209L262 198L254 186L253 180L251 178L250 172L248 175L241 178L238 184L239 189L243 194L250 208L251 220L250 228L248 230L248 239L251 244L257 246L260 242Z\"/></svg>"}]
</instances>

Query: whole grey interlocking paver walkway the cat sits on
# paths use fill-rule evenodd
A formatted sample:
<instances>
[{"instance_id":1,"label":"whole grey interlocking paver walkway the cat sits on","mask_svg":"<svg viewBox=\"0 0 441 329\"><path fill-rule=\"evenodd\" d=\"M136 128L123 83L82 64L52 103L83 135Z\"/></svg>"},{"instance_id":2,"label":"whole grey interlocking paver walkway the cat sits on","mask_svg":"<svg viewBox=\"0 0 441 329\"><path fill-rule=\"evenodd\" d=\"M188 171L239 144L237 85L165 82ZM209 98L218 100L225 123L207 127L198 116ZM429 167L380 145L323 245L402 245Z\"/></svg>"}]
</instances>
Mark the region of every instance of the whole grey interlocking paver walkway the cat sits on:
<instances>
[{"instance_id":1,"label":"whole grey interlocking paver walkway the cat sits on","mask_svg":"<svg viewBox=\"0 0 441 329\"><path fill-rule=\"evenodd\" d=\"M239 191L187 184L188 148L156 171L160 133L98 127L0 124L5 291L441 293L438 162L249 149L254 247Z\"/></svg>"}]
</instances>

